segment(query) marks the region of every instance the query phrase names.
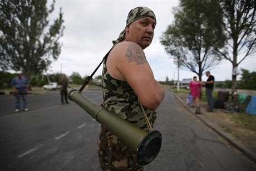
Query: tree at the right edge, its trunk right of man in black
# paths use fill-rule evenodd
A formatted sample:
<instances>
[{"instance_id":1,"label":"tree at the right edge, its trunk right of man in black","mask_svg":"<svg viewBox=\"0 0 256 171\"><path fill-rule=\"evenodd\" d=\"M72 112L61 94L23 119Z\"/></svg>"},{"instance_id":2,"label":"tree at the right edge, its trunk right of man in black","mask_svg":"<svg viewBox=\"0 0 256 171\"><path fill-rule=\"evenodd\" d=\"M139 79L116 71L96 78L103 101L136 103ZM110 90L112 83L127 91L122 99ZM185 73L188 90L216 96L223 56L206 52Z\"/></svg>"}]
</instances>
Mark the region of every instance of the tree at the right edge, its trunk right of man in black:
<instances>
[{"instance_id":1,"label":"tree at the right edge, its trunk right of man in black","mask_svg":"<svg viewBox=\"0 0 256 171\"><path fill-rule=\"evenodd\" d=\"M256 51L256 1L221 0L223 26L229 38L218 53L232 63L233 70ZM232 75L232 95L237 89L237 75Z\"/></svg>"}]
</instances>

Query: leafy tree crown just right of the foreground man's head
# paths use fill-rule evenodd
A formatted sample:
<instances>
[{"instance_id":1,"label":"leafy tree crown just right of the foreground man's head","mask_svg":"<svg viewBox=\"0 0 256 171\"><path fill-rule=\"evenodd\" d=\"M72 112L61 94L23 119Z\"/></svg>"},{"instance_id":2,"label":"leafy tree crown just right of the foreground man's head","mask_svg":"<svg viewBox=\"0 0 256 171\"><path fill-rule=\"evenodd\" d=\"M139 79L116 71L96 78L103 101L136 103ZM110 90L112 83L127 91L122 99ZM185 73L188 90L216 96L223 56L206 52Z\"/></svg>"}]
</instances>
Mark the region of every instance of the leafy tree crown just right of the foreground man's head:
<instances>
[{"instance_id":1,"label":"leafy tree crown just right of the foreground man's head","mask_svg":"<svg viewBox=\"0 0 256 171\"><path fill-rule=\"evenodd\" d=\"M218 48L223 48L225 35L222 14L214 0L181 0L174 11L174 23L160 38L175 64L188 68L199 76L218 64Z\"/></svg>"}]
</instances>

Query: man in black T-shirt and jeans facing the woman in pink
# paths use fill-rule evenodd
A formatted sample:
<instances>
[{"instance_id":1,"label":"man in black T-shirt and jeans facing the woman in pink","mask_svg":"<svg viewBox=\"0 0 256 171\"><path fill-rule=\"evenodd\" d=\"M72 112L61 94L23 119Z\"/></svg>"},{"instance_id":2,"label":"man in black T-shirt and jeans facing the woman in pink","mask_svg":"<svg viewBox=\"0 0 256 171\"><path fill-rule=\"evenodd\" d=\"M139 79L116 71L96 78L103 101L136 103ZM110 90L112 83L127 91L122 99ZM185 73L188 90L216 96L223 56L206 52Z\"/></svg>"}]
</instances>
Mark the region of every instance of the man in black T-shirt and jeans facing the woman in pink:
<instances>
[{"instance_id":1,"label":"man in black T-shirt and jeans facing the woman in pink","mask_svg":"<svg viewBox=\"0 0 256 171\"><path fill-rule=\"evenodd\" d=\"M209 106L207 112L213 112L214 76L210 74L210 71L207 71L205 73L205 75L208 76L207 81L203 82L203 84L205 84L206 98L207 98L208 106Z\"/></svg>"}]
</instances>

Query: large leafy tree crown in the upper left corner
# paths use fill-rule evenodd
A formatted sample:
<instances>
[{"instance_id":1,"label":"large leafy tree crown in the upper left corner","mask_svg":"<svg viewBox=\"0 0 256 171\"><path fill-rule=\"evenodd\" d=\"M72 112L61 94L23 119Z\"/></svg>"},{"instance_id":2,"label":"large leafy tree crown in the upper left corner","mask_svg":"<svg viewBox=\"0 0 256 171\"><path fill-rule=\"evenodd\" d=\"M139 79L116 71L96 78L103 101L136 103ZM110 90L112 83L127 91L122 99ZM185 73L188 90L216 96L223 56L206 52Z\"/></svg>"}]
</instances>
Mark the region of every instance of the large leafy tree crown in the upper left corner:
<instances>
[{"instance_id":1,"label":"large leafy tree crown in the upper left corner","mask_svg":"<svg viewBox=\"0 0 256 171\"><path fill-rule=\"evenodd\" d=\"M0 70L24 71L32 74L46 71L61 53L59 41L63 35L63 13L49 25L47 0L2 0L0 2ZM48 29L46 31L46 29Z\"/></svg>"}]
</instances>

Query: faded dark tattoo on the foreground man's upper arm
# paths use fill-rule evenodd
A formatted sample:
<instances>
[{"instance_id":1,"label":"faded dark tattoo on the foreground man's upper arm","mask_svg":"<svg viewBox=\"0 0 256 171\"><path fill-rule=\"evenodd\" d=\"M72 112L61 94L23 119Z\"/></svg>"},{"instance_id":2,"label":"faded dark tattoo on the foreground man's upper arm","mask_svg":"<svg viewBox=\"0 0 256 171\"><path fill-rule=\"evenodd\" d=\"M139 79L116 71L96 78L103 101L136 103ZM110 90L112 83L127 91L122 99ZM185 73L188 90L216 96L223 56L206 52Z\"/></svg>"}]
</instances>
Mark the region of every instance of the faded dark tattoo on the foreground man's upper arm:
<instances>
[{"instance_id":1,"label":"faded dark tattoo on the foreground man's upper arm","mask_svg":"<svg viewBox=\"0 0 256 171\"><path fill-rule=\"evenodd\" d=\"M128 58L128 62L135 62L137 65L147 63L144 51L141 50L137 45L131 44L125 53Z\"/></svg>"}]
</instances>

